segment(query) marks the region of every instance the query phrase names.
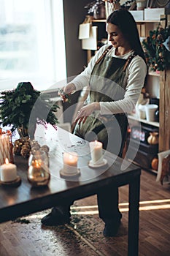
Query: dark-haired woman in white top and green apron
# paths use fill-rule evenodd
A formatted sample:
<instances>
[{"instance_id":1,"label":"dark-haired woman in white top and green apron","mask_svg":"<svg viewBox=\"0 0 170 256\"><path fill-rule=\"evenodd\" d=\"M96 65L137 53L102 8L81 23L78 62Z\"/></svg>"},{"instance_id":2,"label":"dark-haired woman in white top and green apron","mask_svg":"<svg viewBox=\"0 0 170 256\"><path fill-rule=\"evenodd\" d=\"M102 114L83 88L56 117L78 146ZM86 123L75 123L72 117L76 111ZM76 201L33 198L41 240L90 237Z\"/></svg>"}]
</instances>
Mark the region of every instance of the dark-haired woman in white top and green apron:
<instances>
[{"instance_id":1,"label":"dark-haired woman in white top and green apron","mask_svg":"<svg viewBox=\"0 0 170 256\"><path fill-rule=\"evenodd\" d=\"M100 140L105 149L121 157L128 124L125 113L134 110L147 76L147 64L130 12L112 12L107 18L107 33L111 44L98 50L88 67L64 88L64 92L70 94L90 85L88 105L77 114L74 134L89 141ZM99 217L105 223L104 236L115 236L122 217L118 188L104 187L97 196ZM68 223L71 204L54 207L42 219L42 224Z\"/></svg>"}]
</instances>

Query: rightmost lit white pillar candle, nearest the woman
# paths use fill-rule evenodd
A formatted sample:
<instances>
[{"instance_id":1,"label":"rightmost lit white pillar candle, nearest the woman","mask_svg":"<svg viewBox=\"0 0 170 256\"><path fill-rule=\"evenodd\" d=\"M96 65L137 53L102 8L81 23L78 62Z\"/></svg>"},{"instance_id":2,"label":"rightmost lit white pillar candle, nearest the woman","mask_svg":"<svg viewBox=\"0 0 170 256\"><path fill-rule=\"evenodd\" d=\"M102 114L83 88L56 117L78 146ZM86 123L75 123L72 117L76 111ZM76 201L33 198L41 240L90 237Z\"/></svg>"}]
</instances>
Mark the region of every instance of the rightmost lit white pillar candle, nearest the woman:
<instances>
[{"instance_id":1,"label":"rightmost lit white pillar candle, nearest the woman","mask_svg":"<svg viewBox=\"0 0 170 256\"><path fill-rule=\"evenodd\" d=\"M103 144L97 140L91 141L90 145L90 154L91 161L93 164L101 164L103 163Z\"/></svg>"}]
</instances>

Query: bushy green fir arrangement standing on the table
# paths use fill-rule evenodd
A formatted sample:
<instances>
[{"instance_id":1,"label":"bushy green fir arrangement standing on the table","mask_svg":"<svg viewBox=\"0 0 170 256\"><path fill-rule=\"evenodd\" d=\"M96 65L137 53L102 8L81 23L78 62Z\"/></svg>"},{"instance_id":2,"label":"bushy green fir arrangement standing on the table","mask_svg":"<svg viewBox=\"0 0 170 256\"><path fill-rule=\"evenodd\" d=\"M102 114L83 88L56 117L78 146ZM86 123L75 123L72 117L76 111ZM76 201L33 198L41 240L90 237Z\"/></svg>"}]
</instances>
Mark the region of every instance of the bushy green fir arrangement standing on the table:
<instances>
[{"instance_id":1,"label":"bushy green fir arrangement standing on the table","mask_svg":"<svg viewBox=\"0 0 170 256\"><path fill-rule=\"evenodd\" d=\"M50 101L49 95L36 91L30 82L18 83L14 90L1 91L0 124L3 127L11 126L12 132L15 129L25 129L27 132L28 129L34 130L37 118L55 125L58 118L54 112L58 108Z\"/></svg>"}]
</instances>

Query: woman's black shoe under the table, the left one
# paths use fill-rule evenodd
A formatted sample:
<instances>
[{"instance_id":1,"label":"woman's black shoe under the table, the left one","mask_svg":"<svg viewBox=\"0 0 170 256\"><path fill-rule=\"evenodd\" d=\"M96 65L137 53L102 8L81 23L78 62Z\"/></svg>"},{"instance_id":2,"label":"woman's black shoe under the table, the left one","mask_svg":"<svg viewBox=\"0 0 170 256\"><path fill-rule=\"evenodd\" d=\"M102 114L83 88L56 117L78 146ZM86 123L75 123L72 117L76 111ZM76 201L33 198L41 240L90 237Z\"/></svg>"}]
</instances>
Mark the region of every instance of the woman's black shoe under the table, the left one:
<instances>
[{"instance_id":1,"label":"woman's black shoe under the table, the left one","mask_svg":"<svg viewBox=\"0 0 170 256\"><path fill-rule=\"evenodd\" d=\"M47 214L41 219L42 225L45 226L58 226L70 222L70 213L63 212L62 208L54 207L50 214Z\"/></svg>"}]
</instances>

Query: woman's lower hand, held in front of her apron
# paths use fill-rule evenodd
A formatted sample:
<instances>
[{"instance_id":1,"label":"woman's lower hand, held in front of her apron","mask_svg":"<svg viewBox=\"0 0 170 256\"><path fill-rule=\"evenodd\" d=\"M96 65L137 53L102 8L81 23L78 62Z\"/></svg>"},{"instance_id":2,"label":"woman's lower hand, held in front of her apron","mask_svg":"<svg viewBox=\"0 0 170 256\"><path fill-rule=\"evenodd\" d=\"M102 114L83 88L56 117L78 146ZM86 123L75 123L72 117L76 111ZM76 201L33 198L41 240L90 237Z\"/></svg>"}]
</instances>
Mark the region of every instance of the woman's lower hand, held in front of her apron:
<instances>
[{"instance_id":1,"label":"woman's lower hand, held in front of her apron","mask_svg":"<svg viewBox=\"0 0 170 256\"><path fill-rule=\"evenodd\" d=\"M85 107L80 108L80 111L78 111L74 122L77 123L78 121L78 124L81 124L81 122L84 124L88 116L90 116L90 114L95 110L100 110L99 102L93 102Z\"/></svg>"}]
</instances>

